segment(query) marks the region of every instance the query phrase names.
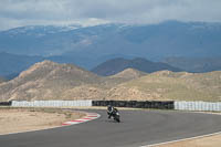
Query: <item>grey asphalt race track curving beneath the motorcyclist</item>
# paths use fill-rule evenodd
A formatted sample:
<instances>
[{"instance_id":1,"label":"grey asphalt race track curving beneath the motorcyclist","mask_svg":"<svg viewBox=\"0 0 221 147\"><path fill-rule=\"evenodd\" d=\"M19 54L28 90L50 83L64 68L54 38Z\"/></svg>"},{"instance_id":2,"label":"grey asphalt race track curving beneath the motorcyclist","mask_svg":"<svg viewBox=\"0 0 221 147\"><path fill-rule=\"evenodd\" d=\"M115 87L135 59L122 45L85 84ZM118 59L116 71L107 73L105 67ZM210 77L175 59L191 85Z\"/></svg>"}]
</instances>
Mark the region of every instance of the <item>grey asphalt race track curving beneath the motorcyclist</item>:
<instances>
[{"instance_id":1,"label":"grey asphalt race track curving beneath the motorcyclist","mask_svg":"<svg viewBox=\"0 0 221 147\"><path fill-rule=\"evenodd\" d=\"M221 116L172 111L120 111L122 123L98 119L0 136L1 147L139 147L221 132Z\"/></svg>"}]
</instances>

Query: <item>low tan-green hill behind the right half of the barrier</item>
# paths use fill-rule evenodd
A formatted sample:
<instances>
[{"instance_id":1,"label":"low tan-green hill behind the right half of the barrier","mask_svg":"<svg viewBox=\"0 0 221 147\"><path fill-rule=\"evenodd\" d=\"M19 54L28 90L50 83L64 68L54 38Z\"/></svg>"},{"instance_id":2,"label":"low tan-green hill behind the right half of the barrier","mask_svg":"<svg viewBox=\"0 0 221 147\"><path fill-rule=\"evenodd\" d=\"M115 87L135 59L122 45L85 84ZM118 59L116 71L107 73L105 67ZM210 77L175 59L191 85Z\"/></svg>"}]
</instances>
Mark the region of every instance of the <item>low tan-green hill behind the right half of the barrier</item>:
<instances>
[{"instance_id":1,"label":"low tan-green hill behind the right half of the barrier","mask_svg":"<svg viewBox=\"0 0 221 147\"><path fill-rule=\"evenodd\" d=\"M112 88L109 99L221 101L221 72L161 71Z\"/></svg>"}]
</instances>

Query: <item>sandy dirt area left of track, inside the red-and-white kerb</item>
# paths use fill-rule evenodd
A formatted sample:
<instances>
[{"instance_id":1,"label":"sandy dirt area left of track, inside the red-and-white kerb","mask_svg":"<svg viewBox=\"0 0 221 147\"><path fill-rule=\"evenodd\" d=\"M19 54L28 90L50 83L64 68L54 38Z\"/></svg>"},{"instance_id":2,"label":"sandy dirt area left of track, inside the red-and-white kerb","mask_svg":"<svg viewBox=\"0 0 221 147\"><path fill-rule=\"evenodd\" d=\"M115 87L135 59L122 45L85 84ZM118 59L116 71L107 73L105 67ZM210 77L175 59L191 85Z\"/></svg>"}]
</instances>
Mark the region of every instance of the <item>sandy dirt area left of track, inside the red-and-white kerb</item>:
<instances>
[{"instance_id":1,"label":"sandy dirt area left of track, inside the red-and-white kerb","mask_svg":"<svg viewBox=\"0 0 221 147\"><path fill-rule=\"evenodd\" d=\"M61 126L85 114L51 108L0 108L0 135Z\"/></svg>"}]
</instances>

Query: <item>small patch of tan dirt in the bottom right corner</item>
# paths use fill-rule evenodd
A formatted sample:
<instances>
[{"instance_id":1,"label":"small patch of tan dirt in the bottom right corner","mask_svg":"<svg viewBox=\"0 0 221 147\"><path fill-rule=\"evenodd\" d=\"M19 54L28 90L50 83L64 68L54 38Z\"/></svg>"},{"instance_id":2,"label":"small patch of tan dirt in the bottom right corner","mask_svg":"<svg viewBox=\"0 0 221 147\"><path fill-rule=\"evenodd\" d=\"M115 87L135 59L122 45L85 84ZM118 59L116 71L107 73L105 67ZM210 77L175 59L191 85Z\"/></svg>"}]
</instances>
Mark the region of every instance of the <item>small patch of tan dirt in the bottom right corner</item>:
<instances>
[{"instance_id":1,"label":"small patch of tan dirt in the bottom right corner","mask_svg":"<svg viewBox=\"0 0 221 147\"><path fill-rule=\"evenodd\" d=\"M221 146L221 134L198 139L170 143L167 145L159 145L155 147L220 147L220 146Z\"/></svg>"}]
</instances>

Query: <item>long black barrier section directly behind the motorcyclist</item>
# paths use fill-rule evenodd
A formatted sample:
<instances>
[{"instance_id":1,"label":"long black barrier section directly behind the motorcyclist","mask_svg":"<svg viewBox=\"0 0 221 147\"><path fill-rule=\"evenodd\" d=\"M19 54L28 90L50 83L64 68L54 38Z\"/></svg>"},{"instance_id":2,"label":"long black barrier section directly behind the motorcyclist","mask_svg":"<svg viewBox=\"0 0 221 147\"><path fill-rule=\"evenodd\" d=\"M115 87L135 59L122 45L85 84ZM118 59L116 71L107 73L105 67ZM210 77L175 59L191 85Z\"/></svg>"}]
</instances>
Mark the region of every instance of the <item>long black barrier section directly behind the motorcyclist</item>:
<instances>
[{"instance_id":1,"label":"long black barrier section directly behind the motorcyclist","mask_svg":"<svg viewBox=\"0 0 221 147\"><path fill-rule=\"evenodd\" d=\"M134 108L159 108L159 109L173 109L175 102L160 102L160 101L92 101L93 106L107 106L115 107L134 107Z\"/></svg>"}]
</instances>

